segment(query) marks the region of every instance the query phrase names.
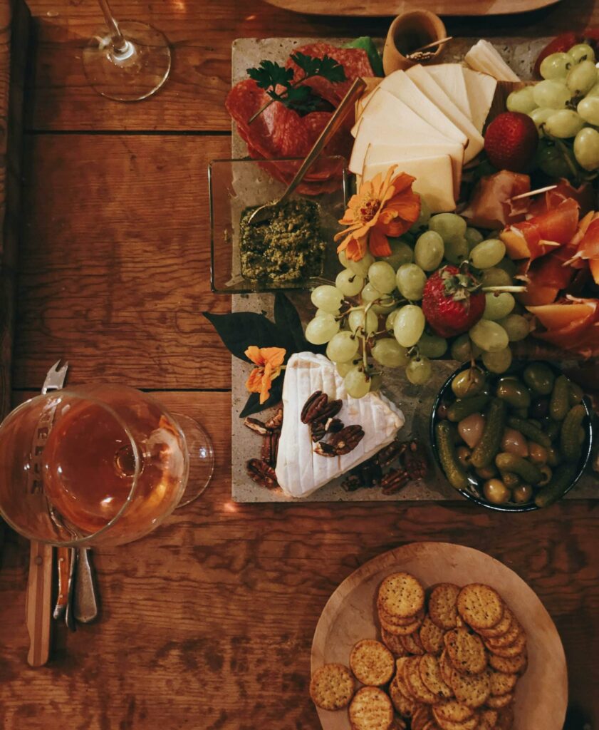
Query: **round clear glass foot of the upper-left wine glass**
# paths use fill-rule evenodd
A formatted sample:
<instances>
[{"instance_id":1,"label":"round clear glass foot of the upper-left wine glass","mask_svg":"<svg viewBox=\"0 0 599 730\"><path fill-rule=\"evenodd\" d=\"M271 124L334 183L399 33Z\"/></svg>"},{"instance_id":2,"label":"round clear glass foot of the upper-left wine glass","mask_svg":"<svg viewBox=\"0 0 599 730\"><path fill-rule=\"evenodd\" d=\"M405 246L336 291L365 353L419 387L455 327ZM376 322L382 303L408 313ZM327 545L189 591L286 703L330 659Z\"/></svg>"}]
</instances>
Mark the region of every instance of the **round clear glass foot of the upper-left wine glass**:
<instances>
[{"instance_id":1,"label":"round clear glass foot of the upper-left wine glass","mask_svg":"<svg viewBox=\"0 0 599 730\"><path fill-rule=\"evenodd\" d=\"M123 53L117 53L107 28L83 49L83 69L90 85L115 101L140 101L158 91L171 70L171 49L161 31L136 20L123 20Z\"/></svg>"}]
</instances>

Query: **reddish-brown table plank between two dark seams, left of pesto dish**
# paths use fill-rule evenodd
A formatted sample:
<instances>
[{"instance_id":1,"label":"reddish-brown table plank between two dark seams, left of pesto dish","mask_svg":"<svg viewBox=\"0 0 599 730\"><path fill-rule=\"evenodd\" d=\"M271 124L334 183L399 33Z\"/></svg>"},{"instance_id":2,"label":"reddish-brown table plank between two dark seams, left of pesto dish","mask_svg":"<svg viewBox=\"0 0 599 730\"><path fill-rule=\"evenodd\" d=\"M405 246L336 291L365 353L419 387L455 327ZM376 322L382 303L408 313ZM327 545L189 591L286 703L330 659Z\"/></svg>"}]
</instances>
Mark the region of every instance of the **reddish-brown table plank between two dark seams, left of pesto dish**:
<instances>
[{"instance_id":1,"label":"reddish-brown table plank between two dark seams, left of pesto dish","mask_svg":"<svg viewBox=\"0 0 599 730\"><path fill-rule=\"evenodd\" d=\"M203 310L206 166L228 137L27 138L16 388L69 360L69 383L228 388L231 361Z\"/></svg>"}]
</instances>

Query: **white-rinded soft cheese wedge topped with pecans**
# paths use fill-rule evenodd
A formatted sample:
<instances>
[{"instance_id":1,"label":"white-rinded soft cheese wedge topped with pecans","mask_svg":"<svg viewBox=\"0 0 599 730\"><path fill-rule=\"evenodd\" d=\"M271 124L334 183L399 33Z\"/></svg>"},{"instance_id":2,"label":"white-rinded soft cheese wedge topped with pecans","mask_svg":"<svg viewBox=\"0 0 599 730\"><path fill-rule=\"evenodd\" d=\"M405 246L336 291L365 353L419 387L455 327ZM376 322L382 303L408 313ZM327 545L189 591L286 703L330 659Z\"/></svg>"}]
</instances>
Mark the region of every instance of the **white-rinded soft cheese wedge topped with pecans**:
<instances>
[{"instance_id":1,"label":"white-rinded soft cheese wedge topped with pecans","mask_svg":"<svg viewBox=\"0 0 599 730\"><path fill-rule=\"evenodd\" d=\"M344 456L314 453L309 427L301 423L300 414L315 391L343 401L339 418L346 426L362 426L363 439ZM276 472L279 485L290 497L312 494L374 456L393 441L405 423L401 410L379 393L368 393L360 399L348 396L333 363L314 353L295 353L289 358L283 383L283 412Z\"/></svg>"}]
</instances>

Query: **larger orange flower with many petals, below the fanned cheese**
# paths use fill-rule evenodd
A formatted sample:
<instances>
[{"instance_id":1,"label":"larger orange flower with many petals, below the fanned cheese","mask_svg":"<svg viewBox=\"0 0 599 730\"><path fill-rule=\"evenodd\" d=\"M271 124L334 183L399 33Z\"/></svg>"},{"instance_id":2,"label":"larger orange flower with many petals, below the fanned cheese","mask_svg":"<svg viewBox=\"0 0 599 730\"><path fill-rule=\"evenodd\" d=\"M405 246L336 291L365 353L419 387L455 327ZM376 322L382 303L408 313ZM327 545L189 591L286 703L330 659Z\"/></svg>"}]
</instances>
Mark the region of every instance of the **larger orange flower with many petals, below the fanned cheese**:
<instances>
[{"instance_id":1,"label":"larger orange flower with many petals, below the fanned cheese","mask_svg":"<svg viewBox=\"0 0 599 730\"><path fill-rule=\"evenodd\" d=\"M387 236L401 236L416 222L420 196L411 189L415 178L405 172L393 177L396 167L387 170L384 180L379 172L372 180L363 181L352 196L339 221L349 227L336 234L336 241L343 238L337 253L345 251L351 261L360 261L368 250L374 256L389 256Z\"/></svg>"}]
</instances>

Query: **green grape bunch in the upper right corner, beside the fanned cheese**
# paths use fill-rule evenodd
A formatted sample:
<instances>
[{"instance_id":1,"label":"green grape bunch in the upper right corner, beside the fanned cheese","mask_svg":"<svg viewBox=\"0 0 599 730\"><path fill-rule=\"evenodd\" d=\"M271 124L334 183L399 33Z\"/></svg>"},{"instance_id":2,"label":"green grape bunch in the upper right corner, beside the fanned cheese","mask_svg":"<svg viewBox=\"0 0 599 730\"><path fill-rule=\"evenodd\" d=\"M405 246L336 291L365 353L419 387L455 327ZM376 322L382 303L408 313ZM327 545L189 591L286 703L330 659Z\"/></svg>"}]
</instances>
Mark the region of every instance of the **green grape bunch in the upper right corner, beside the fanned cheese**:
<instances>
[{"instance_id":1,"label":"green grape bunch in the upper right corner, beside the fanned cheese","mask_svg":"<svg viewBox=\"0 0 599 730\"><path fill-rule=\"evenodd\" d=\"M541 144L536 164L552 177L581 177L599 168L599 76L587 43L552 53L541 63L543 81L512 91L510 112L527 114Z\"/></svg>"}]
</instances>

